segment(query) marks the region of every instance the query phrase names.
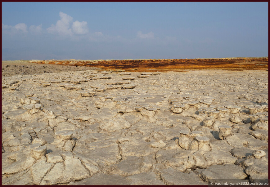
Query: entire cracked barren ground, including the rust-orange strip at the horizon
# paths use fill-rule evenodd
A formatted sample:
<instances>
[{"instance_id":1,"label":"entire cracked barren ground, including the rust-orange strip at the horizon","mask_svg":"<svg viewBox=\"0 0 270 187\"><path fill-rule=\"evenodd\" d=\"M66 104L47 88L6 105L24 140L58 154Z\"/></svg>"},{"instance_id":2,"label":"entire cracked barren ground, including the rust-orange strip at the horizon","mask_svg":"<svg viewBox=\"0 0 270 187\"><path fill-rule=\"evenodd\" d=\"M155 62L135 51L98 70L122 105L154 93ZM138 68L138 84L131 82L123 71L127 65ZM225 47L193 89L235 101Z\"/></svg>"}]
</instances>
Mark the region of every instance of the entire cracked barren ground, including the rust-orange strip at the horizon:
<instances>
[{"instance_id":1,"label":"entire cracked barren ground, including the rust-orange strip at the horizon","mask_svg":"<svg viewBox=\"0 0 270 187\"><path fill-rule=\"evenodd\" d=\"M2 61L2 185L268 182L268 58Z\"/></svg>"}]
</instances>

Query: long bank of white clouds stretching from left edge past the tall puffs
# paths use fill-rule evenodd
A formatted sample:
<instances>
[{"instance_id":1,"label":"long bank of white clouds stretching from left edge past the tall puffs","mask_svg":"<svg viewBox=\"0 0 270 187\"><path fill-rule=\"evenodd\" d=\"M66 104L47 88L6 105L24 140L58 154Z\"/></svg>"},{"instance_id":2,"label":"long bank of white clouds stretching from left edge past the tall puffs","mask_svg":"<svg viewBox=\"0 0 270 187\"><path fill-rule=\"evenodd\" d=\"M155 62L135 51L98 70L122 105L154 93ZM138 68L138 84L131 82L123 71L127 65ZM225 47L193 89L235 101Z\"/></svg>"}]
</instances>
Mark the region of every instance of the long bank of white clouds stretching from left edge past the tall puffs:
<instances>
[{"instance_id":1,"label":"long bank of white clouds stretching from left edge past the tall puffs","mask_svg":"<svg viewBox=\"0 0 270 187\"><path fill-rule=\"evenodd\" d=\"M109 36L109 35L104 35L100 31L94 32L94 33L89 33L88 29L88 24L87 21L74 21L73 22L73 17L69 16L68 14L64 12L59 12L60 20L56 21L56 24L52 24L51 27L43 30L42 24L36 26L36 25L31 25L29 28L25 23L19 23L16 24L15 26L11 25L5 25L2 24L2 31L5 31L5 34L9 35L14 35L21 33L23 35L27 35L28 33L30 34L45 34L46 31L49 34L53 34L56 36L60 36L58 39L64 39L66 36L69 36L70 39L75 40L75 41L80 41L83 38L88 39L90 41L124 41L124 42L132 42L138 39L158 39L155 38L155 35L153 32L149 33L142 33L142 31L137 32L137 36L135 38L123 38L121 36ZM45 32L44 32L45 31Z\"/></svg>"}]
</instances>

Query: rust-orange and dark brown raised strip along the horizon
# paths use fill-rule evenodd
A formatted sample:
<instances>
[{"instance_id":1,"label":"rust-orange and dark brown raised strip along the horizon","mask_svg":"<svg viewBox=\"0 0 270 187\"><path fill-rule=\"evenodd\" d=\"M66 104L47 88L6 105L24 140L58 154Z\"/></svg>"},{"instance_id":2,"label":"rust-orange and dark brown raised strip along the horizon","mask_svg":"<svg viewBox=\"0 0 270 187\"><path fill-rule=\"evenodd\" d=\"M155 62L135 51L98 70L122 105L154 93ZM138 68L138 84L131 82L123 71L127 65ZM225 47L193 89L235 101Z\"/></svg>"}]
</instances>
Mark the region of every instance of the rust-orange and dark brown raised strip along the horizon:
<instances>
[{"instance_id":1,"label":"rust-orange and dark brown raised strip along the horizon","mask_svg":"<svg viewBox=\"0 0 270 187\"><path fill-rule=\"evenodd\" d=\"M267 70L268 58L230 58L230 59L164 59L164 60L46 60L33 62L38 64L57 64L88 66L104 70L129 71L182 71L196 69L223 70Z\"/></svg>"}]
</instances>

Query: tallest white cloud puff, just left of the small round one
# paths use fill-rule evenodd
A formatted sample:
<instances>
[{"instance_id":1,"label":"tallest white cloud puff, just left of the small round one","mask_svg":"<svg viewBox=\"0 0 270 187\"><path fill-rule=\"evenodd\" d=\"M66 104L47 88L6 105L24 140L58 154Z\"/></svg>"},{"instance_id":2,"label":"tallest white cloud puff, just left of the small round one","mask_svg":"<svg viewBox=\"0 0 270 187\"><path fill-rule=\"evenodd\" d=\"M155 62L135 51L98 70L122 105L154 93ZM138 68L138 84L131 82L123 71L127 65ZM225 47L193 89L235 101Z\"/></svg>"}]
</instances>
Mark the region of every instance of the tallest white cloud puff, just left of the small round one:
<instances>
[{"instance_id":1,"label":"tallest white cloud puff, just left of the small round one","mask_svg":"<svg viewBox=\"0 0 270 187\"><path fill-rule=\"evenodd\" d=\"M56 25L52 24L51 27L47 28L48 33L59 34L59 35L72 35L70 22L73 18L63 12L59 12L60 20L56 22Z\"/></svg>"}]
</instances>

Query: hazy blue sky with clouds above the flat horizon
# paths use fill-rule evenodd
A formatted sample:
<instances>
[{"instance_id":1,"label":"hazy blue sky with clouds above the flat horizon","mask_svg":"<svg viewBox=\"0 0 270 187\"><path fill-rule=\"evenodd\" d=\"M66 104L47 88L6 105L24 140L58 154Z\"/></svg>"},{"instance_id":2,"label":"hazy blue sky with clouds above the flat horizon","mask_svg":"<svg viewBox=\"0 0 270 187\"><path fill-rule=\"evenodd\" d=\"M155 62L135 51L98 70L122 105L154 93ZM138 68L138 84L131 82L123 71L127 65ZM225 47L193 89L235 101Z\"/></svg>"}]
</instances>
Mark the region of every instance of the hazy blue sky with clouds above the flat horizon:
<instances>
[{"instance_id":1,"label":"hazy blue sky with clouds above the flat horizon","mask_svg":"<svg viewBox=\"0 0 270 187\"><path fill-rule=\"evenodd\" d=\"M2 60L268 56L268 2L2 2Z\"/></svg>"}]
</instances>

